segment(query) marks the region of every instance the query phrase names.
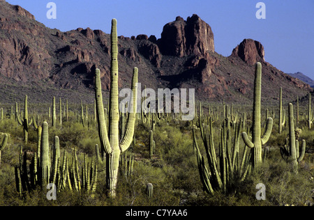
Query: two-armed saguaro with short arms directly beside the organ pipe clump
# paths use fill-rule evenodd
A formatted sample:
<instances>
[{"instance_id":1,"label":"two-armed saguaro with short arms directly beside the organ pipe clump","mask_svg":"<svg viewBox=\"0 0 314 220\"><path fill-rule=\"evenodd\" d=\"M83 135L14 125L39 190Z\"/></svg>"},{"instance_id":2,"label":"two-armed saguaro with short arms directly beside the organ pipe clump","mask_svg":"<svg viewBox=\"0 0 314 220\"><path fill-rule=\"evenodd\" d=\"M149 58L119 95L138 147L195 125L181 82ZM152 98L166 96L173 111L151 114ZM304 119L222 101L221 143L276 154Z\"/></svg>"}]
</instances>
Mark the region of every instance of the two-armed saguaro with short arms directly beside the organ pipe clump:
<instances>
[{"instance_id":1,"label":"two-armed saguaro with short arms directly beside the organ pipe clump","mask_svg":"<svg viewBox=\"0 0 314 220\"><path fill-rule=\"evenodd\" d=\"M248 139L246 132L242 133L242 138L246 146L252 148L251 159L253 168L258 171L262 163L262 145L267 143L271 129L273 127L273 119L267 119L267 125L263 136L261 136L261 113L260 113L260 99L261 99L261 82L262 82L262 64L257 62L255 64L255 80L254 80L254 100L253 100L253 132L252 141Z\"/></svg>"}]
</instances>

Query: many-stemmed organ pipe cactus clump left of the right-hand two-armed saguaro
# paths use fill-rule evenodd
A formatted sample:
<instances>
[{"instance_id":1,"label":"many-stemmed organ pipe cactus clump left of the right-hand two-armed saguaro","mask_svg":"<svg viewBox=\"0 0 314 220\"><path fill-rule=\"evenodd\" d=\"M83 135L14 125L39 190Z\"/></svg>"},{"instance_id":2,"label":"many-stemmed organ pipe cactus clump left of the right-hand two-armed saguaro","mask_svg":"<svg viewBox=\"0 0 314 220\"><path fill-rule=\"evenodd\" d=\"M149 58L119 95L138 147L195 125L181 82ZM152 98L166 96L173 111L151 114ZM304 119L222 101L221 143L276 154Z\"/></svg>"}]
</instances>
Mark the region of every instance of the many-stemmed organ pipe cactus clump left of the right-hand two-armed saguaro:
<instances>
[{"instance_id":1,"label":"many-stemmed organ pipe cactus clump left of the right-hand two-armed saguaro","mask_svg":"<svg viewBox=\"0 0 314 220\"><path fill-rule=\"evenodd\" d=\"M207 166L205 166L204 157L200 153L195 132L196 127L193 127L193 141L197 164L204 190L209 194L214 194L214 191L217 190L222 190L226 193L232 178L244 179L246 177L246 167L248 167L246 158L247 148L244 150L242 160L239 157L239 139L243 127L241 126L241 120L239 120L239 122L235 123L234 129L232 129L230 118L225 119L220 129L220 141L218 144L219 155L216 155L212 123L213 121L210 118L208 124L205 125L202 123L200 127L200 134L206 150L209 170ZM234 132L233 140L232 131Z\"/></svg>"}]
</instances>

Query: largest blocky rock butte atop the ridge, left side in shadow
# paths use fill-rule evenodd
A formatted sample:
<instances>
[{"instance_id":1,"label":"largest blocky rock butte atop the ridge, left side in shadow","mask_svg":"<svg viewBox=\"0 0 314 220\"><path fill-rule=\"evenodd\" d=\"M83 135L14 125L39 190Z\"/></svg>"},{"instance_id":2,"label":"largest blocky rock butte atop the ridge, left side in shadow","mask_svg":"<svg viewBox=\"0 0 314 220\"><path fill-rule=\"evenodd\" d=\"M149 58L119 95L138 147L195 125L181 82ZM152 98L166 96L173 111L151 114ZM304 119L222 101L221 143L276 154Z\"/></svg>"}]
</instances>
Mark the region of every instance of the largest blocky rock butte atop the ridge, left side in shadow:
<instances>
[{"instance_id":1,"label":"largest blocky rock butte atop the ridge, left side in shadow","mask_svg":"<svg viewBox=\"0 0 314 220\"><path fill-rule=\"evenodd\" d=\"M158 46L162 54L171 56L202 55L214 52L214 33L209 24L197 15L186 21L177 17L163 27Z\"/></svg>"}]
</instances>

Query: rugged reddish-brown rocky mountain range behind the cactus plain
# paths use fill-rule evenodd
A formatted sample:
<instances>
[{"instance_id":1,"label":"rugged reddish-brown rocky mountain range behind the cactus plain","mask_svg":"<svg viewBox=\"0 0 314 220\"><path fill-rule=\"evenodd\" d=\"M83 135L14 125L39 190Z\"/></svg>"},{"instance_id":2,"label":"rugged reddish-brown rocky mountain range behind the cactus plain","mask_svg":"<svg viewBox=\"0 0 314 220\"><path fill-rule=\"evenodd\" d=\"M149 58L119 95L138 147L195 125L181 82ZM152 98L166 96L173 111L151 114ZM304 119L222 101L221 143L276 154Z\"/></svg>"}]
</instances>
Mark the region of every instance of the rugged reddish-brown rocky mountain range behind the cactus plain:
<instances>
[{"instance_id":1,"label":"rugged reddish-brown rocky mountain range behind the cactus plain","mask_svg":"<svg viewBox=\"0 0 314 220\"><path fill-rule=\"evenodd\" d=\"M108 21L110 22L110 21ZM119 21L118 21L119 35ZM244 39L230 56L215 52L214 33L199 16L165 24L160 39L141 34L119 36L119 86L130 87L139 68L142 88L195 88L198 100L251 104L254 63L263 65L262 101L277 104L306 95L311 88L264 60L260 42ZM53 95L73 102L94 100L94 70L110 88L110 34L77 28L49 29L20 6L0 1L0 102L51 102Z\"/></svg>"}]
</instances>

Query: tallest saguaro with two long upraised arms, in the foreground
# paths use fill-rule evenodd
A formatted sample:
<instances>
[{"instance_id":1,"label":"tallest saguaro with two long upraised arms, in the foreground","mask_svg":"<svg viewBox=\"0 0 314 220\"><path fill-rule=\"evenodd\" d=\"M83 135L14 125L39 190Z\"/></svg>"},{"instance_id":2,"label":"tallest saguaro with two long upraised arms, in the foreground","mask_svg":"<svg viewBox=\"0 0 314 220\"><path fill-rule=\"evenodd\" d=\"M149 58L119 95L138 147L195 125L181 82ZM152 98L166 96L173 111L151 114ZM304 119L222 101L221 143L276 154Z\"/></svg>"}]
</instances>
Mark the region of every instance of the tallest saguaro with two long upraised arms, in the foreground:
<instances>
[{"instance_id":1,"label":"tallest saguaro with two long upraised arms, in the foreground","mask_svg":"<svg viewBox=\"0 0 314 220\"><path fill-rule=\"evenodd\" d=\"M133 139L135 127L136 101L137 101L137 68L133 69L132 111L128 115L124 136L119 140L119 91L118 91L118 45L117 45L117 20L112 19L111 29L111 84L110 84L110 111L109 131L105 123L105 112L103 108L103 96L101 93L100 70L96 69L95 91L98 120L98 134L102 150L106 153L106 184L109 196L116 196L119 157L121 152L127 150Z\"/></svg>"}]
</instances>

